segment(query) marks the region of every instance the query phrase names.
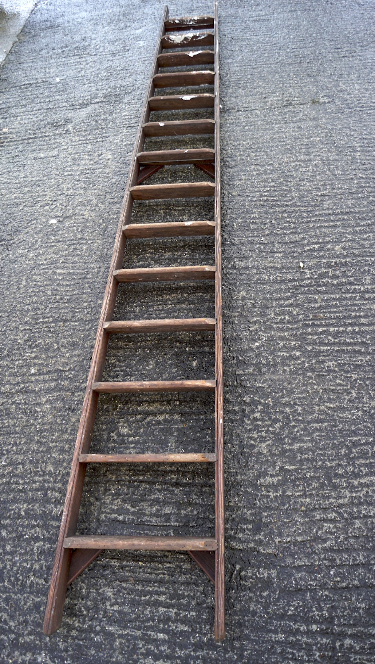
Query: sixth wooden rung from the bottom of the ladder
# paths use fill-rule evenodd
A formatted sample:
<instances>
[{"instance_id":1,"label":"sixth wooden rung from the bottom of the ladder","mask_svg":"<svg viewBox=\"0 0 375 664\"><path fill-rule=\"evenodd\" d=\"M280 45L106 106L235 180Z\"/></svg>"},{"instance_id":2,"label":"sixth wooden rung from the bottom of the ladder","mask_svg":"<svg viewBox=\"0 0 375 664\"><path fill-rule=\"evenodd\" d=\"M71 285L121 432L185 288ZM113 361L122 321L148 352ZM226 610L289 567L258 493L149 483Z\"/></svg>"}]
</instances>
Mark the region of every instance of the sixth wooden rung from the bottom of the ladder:
<instances>
[{"instance_id":1,"label":"sixth wooden rung from the bottom of the ladder","mask_svg":"<svg viewBox=\"0 0 375 664\"><path fill-rule=\"evenodd\" d=\"M166 224L128 224L126 238L176 238L189 235L215 235L214 221L171 221Z\"/></svg>"}]
</instances>

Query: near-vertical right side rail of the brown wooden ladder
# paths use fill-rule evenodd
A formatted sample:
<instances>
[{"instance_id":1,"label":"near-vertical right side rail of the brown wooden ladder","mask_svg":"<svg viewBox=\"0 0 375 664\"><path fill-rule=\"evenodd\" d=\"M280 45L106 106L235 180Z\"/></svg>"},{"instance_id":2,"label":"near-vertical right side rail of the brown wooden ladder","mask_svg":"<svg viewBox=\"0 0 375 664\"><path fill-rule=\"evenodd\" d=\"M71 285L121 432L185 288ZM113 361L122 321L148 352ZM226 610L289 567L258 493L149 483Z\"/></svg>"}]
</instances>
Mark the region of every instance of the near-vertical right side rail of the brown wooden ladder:
<instances>
[{"instance_id":1,"label":"near-vertical right side rail of the brown wooden ladder","mask_svg":"<svg viewBox=\"0 0 375 664\"><path fill-rule=\"evenodd\" d=\"M221 311L221 203L220 203L220 125L219 125L219 34L215 2L215 640L225 637L224 570L224 447L223 447L223 330Z\"/></svg>"}]
</instances>

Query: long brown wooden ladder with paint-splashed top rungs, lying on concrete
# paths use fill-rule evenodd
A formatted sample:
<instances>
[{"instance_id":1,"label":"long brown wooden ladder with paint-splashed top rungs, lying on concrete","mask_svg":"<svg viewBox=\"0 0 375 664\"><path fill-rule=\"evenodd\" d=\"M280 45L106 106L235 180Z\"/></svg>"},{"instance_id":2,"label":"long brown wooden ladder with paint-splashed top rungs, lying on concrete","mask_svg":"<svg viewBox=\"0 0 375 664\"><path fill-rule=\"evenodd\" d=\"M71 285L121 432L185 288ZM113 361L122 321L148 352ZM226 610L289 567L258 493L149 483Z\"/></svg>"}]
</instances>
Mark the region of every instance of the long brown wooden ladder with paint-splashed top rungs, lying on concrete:
<instances>
[{"instance_id":1,"label":"long brown wooden ladder with paint-splashed top rungs, lying on concrete","mask_svg":"<svg viewBox=\"0 0 375 664\"><path fill-rule=\"evenodd\" d=\"M191 65L213 65L213 70L186 70ZM173 73L163 68L180 67ZM185 68L185 70L184 70ZM154 96L155 88L212 85L213 94ZM213 108L215 120L178 120L149 122L152 111ZM143 151L146 137L215 134L215 149L172 149ZM213 181L141 185L158 169L174 164L194 164ZM215 222L166 222L131 224L134 201L214 197ZM175 236L215 236L215 265L187 267L122 269L127 238L165 238ZM215 280L215 318L113 321L120 282L170 280ZM215 331L215 380L154 380L141 382L103 382L103 368L109 335L157 333L166 331ZM99 394L103 392L215 391L214 454L89 454ZM83 482L87 463L215 463L215 537L105 537L76 535ZM189 552L215 583L215 639L225 635L224 580L224 467L223 467L223 341L221 319L221 207L219 151L219 42L217 3L214 17L169 19L164 15L148 82L131 167L117 228L109 277L99 319L87 388L62 523L46 614L44 633L52 634L62 622L66 589L103 549L178 550Z\"/></svg>"}]
</instances>

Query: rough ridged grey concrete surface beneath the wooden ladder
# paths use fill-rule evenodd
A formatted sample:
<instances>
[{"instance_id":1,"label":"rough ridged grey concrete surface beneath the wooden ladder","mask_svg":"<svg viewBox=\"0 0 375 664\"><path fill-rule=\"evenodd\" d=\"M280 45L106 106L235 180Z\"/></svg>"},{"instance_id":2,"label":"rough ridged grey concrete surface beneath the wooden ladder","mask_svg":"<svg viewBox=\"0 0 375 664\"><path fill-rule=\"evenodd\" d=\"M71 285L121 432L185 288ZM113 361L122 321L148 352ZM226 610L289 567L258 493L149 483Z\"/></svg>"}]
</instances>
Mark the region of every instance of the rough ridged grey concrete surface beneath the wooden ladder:
<instances>
[{"instance_id":1,"label":"rough ridged grey concrete surface beneath the wooden ladder","mask_svg":"<svg viewBox=\"0 0 375 664\"><path fill-rule=\"evenodd\" d=\"M171 15L209 11L170 5ZM68 590L60 630L42 635L162 2L42 0L30 15L1 71L2 661L373 661L373 13L354 0L219 6L221 645L213 587L184 554L107 552ZM206 201L134 210L201 214L212 214ZM125 264L212 251L209 240L129 242ZM210 288L124 286L117 315L211 315ZM106 371L209 377L210 333L115 339ZM103 398L93 449L212 450L211 406L209 396ZM80 532L212 529L210 468L87 473Z\"/></svg>"}]
</instances>

